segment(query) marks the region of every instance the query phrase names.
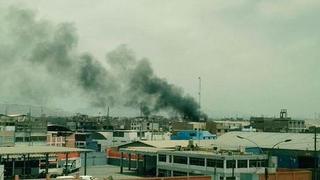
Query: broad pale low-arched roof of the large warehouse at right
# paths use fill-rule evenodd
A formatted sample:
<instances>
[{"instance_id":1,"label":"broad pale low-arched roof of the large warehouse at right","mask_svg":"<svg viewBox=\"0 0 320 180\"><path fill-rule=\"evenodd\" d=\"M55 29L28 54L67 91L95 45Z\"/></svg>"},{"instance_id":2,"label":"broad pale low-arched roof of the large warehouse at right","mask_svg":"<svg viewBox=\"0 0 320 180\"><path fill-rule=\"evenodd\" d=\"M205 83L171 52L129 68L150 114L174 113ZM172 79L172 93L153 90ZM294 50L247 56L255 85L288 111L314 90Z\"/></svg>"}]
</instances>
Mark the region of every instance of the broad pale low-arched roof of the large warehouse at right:
<instances>
[{"instance_id":1,"label":"broad pale low-arched roof of the large warehouse at right","mask_svg":"<svg viewBox=\"0 0 320 180\"><path fill-rule=\"evenodd\" d=\"M220 148L256 147L246 139L237 138L241 136L257 143L261 148L272 148L276 143L291 139L291 142L281 143L275 148L291 150L314 150L314 134L311 133L268 133L268 132L229 132L218 137L214 146ZM318 144L317 149L320 148Z\"/></svg>"}]
</instances>

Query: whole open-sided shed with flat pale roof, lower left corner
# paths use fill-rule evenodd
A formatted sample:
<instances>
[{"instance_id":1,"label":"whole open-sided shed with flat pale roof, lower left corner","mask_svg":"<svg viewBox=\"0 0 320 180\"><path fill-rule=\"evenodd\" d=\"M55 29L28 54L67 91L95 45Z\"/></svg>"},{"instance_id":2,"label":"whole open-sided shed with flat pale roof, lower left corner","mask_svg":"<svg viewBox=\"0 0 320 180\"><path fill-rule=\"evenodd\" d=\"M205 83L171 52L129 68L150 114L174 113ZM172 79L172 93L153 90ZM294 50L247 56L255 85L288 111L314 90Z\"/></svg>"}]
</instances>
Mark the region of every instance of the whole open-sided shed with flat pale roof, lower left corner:
<instances>
[{"instance_id":1,"label":"whole open-sided shed with flat pale roof, lower left corner","mask_svg":"<svg viewBox=\"0 0 320 180\"><path fill-rule=\"evenodd\" d=\"M0 164L4 168L6 178L19 175L21 177L36 177L40 173L50 174L50 169L58 169L58 154L64 154L65 160L61 167L62 174L68 174L71 167L71 155L74 153L84 153L84 174L86 174L86 156L91 150L53 147L53 146L15 146L0 148ZM70 157L69 157L70 156ZM54 167L53 167L54 166ZM43 169L43 171L41 171Z\"/></svg>"}]
</instances>

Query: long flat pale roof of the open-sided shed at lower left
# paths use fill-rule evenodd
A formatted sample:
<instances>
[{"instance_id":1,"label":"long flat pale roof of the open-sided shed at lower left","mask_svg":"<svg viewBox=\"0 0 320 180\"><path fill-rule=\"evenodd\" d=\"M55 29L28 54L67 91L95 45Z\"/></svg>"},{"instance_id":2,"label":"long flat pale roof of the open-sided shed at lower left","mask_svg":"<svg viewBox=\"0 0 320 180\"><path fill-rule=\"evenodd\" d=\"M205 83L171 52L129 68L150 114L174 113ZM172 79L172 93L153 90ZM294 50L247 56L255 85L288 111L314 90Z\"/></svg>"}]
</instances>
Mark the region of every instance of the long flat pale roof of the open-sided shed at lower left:
<instances>
[{"instance_id":1,"label":"long flat pale roof of the open-sided shed at lower left","mask_svg":"<svg viewBox=\"0 0 320 180\"><path fill-rule=\"evenodd\" d=\"M56 154L71 152L92 152L89 149L56 147L56 146L15 146L1 147L0 155L23 155L23 154Z\"/></svg>"}]
</instances>

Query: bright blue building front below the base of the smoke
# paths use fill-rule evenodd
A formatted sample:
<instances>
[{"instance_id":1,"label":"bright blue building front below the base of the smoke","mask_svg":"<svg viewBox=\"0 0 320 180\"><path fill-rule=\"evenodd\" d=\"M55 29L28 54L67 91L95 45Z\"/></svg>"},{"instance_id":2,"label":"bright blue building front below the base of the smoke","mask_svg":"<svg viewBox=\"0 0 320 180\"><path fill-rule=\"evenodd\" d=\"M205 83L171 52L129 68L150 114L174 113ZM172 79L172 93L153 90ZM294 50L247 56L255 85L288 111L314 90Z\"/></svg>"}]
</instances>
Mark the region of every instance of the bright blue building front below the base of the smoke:
<instances>
[{"instance_id":1,"label":"bright blue building front below the base of the smoke","mask_svg":"<svg viewBox=\"0 0 320 180\"><path fill-rule=\"evenodd\" d=\"M171 135L171 140L210 140L216 139L217 136L209 131L177 131Z\"/></svg>"}]
</instances>

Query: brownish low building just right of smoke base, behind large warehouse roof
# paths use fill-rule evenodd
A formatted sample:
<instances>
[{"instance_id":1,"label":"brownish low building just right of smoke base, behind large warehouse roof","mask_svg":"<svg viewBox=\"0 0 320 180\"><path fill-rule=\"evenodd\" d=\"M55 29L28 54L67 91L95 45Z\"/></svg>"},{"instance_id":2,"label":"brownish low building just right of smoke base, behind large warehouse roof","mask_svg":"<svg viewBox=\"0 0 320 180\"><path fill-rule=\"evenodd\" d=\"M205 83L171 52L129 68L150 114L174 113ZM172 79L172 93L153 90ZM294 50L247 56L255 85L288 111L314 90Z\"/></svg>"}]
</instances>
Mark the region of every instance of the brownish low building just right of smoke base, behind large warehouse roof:
<instances>
[{"instance_id":1,"label":"brownish low building just right of smoke base, behind large warehouse roof","mask_svg":"<svg viewBox=\"0 0 320 180\"><path fill-rule=\"evenodd\" d=\"M209 121L206 123L206 130L209 132L220 136L224 133L230 131L241 131L244 127L250 125L249 121L231 121L231 120L221 120L221 121Z\"/></svg>"}]
</instances>

